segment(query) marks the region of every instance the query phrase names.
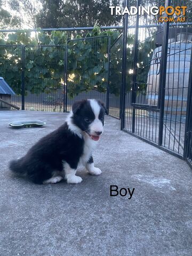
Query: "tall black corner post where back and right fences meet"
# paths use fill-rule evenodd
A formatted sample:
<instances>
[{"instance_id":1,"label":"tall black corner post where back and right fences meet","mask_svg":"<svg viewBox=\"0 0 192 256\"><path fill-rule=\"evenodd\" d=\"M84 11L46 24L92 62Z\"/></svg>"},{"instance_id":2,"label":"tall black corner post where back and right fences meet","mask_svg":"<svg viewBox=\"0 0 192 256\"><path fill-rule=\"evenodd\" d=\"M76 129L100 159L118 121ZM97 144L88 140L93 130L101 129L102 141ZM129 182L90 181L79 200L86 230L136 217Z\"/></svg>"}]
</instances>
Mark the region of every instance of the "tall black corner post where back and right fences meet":
<instances>
[{"instance_id":1,"label":"tall black corner post where back and right fences meet","mask_svg":"<svg viewBox=\"0 0 192 256\"><path fill-rule=\"evenodd\" d=\"M124 0L124 7L128 0ZM126 44L127 44L128 14L124 14L123 19L123 55L122 55L122 86L121 86L121 130L125 127L125 90L126 90Z\"/></svg>"}]
</instances>

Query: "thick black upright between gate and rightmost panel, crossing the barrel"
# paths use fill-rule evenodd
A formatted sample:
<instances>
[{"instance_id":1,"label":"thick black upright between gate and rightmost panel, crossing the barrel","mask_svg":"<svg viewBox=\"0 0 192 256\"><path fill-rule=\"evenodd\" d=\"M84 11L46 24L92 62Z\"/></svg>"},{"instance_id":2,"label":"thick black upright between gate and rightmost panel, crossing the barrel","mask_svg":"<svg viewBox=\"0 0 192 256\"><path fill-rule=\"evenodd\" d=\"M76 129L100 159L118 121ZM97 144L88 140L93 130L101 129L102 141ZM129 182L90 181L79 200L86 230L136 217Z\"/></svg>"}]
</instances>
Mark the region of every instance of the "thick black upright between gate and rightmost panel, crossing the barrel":
<instances>
[{"instance_id":1,"label":"thick black upright between gate and rightmost panel, crossing the barrel","mask_svg":"<svg viewBox=\"0 0 192 256\"><path fill-rule=\"evenodd\" d=\"M165 1L165 7L171 5L171 0ZM167 14L165 14L167 17ZM164 22L163 29L163 44L162 44L162 61L159 72L159 97L158 106L159 111L159 133L158 133L158 145L162 146L163 142L163 118L164 118L164 103L165 103L165 83L166 83L166 66L167 66L167 48L169 39L169 22Z\"/></svg>"}]
</instances>

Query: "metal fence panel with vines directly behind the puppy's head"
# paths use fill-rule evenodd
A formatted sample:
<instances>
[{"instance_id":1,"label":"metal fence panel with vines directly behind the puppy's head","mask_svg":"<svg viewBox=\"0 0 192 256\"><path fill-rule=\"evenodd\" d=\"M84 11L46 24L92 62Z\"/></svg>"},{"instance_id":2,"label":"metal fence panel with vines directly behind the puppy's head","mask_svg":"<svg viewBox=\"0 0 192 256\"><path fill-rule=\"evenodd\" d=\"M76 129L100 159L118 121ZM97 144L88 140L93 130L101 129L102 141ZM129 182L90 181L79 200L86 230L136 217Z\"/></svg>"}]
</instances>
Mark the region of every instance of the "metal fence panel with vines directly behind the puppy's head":
<instances>
[{"instance_id":1,"label":"metal fence panel with vines directly behind the puppy's head","mask_svg":"<svg viewBox=\"0 0 192 256\"><path fill-rule=\"evenodd\" d=\"M108 107L108 36L77 38L67 43L66 111L74 101L95 98Z\"/></svg>"}]
</instances>

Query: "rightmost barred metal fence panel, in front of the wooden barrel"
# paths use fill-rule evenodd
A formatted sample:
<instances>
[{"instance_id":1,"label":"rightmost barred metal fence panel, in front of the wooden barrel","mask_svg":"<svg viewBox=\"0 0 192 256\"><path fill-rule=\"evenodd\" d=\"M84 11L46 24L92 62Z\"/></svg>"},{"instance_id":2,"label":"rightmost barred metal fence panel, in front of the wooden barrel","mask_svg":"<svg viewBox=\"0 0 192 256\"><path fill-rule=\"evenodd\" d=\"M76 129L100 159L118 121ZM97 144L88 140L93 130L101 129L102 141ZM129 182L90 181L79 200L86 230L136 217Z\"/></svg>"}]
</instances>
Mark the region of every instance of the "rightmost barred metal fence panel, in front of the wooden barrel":
<instances>
[{"instance_id":1,"label":"rightmost barred metal fence panel, in front of the wooden barrel","mask_svg":"<svg viewBox=\"0 0 192 256\"><path fill-rule=\"evenodd\" d=\"M176 4L172 1L171 4ZM188 2L187 15L191 15L191 2ZM179 4L179 2L178 2ZM187 23L169 28L167 45L166 83L164 99L164 127L162 145L183 155L189 70L191 65L192 26ZM191 38L189 38L191 36Z\"/></svg>"}]
</instances>

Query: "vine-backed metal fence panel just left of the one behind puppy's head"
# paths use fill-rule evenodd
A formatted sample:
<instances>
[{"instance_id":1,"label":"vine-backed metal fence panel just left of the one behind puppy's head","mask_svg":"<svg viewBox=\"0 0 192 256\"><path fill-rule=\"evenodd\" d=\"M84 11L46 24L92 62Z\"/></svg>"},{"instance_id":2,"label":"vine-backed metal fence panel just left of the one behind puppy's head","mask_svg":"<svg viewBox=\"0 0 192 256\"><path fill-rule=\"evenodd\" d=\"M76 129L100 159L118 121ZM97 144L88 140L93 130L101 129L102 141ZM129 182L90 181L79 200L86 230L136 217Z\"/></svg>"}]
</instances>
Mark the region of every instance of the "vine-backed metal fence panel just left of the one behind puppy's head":
<instances>
[{"instance_id":1,"label":"vine-backed metal fence panel just left of the one behind puppy's head","mask_svg":"<svg viewBox=\"0 0 192 256\"><path fill-rule=\"evenodd\" d=\"M63 111L66 46L24 47L25 110Z\"/></svg>"}]
</instances>

